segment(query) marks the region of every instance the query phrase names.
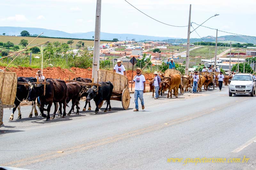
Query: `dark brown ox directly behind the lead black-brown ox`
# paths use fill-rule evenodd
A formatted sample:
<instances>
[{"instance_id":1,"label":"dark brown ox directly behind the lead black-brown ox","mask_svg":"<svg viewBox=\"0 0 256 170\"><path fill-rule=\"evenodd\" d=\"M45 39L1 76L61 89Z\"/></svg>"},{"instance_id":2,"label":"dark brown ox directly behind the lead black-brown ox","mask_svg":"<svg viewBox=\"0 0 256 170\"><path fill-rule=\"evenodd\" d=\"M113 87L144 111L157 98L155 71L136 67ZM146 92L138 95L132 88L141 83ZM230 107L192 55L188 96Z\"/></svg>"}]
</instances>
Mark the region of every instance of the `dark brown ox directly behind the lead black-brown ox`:
<instances>
[{"instance_id":1,"label":"dark brown ox directly behind the lead black-brown ox","mask_svg":"<svg viewBox=\"0 0 256 170\"><path fill-rule=\"evenodd\" d=\"M75 105L76 105L76 115L79 115L78 97L81 92L81 86L76 82L70 82L70 83L67 83L66 85L67 85L67 89L68 89L68 95L67 95L67 100L66 100L67 104L70 100L72 100L72 106L68 112L68 116L71 114L72 110L74 110ZM61 114L62 114L61 113L61 103L59 102L59 104L60 104L59 116L61 116Z\"/></svg>"}]
</instances>

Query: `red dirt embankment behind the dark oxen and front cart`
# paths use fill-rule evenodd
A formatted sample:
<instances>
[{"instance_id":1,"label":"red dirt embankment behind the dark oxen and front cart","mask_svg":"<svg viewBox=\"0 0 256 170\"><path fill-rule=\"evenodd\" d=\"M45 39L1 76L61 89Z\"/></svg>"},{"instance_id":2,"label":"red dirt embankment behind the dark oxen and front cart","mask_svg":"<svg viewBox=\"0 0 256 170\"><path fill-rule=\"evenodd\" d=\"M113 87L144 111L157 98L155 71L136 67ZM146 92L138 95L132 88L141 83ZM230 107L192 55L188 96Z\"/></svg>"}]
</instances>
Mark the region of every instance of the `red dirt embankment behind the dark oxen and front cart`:
<instances>
[{"instance_id":1,"label":"red dirt embankment behind the dark oxen and front cart","mask_svg":"<svg viewBox=\"0 0 256 170\"><path fill-rule=\"evenodd\" d=\"M4 69L5 67L0 67L0 69ZM37 70L40 69L32 69L30 67L10 67L8 68L9 72L15 72L17 77L35 77ZM43 69L43 75L46 78L60 78L60 79L68 79L75 78L75 77L82 77L82 78L92 78L92 69L80 69L72 67L71 69L61 69L60 67L47 67ZM129 80L132 80L132 70L127 70L126 75ZM133 71L133 77L136 75L136 71ZM147 78L153 78L153 73L143 74L147 80ZM148 81L146 81L148 84Z\"/></svg>"}]
</instances>

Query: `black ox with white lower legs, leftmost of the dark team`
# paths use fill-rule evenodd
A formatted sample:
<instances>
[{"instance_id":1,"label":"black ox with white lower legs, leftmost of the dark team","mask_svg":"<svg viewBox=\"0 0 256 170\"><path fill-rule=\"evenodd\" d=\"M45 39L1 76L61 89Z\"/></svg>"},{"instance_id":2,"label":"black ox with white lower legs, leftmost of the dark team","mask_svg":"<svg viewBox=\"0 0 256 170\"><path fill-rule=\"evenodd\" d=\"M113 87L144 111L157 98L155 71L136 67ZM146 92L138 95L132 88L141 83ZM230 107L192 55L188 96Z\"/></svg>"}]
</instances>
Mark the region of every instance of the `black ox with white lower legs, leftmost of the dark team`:
<instances>
[{"instance_id":1,"label":"black ox with white lower legs, leftmost of the dark team","mask_svg":"<svg viewBox=\"0 0 256 170\"><path fill-rule=\"evenodd\" d=\"M25 83L36 82L36 78L33 78L33 77L18 77L17 81L25 82ZM9 120L13 120L14 112L17 108L18 108L18 111L19 111L18 119L21 119L20 102L22 102L24 99L25 100L28 99L28 85L27 86L17 85L16 98L14 100L15 107L12 109L12 114L11 114ZM35 116L37 116L38 113L37 113L37 110L36 110L36 101L35 100L32 101L32 109L31 109L31 112L29 114L29 117L32 117L33 110L35 110Z\"/></svg>"}]
</instances>

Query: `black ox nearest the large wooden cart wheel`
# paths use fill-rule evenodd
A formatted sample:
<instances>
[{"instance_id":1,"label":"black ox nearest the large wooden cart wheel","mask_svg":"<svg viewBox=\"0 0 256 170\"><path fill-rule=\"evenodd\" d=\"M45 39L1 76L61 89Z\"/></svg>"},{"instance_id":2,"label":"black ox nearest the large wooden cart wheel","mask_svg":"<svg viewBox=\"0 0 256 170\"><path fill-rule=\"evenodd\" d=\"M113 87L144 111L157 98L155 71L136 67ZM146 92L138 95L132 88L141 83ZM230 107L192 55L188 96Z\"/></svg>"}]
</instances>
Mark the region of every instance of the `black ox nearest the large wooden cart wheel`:
<instances>
[{"instance_id":1,"label":"black ox nearest the large wooden cart wheel","mask_svg":"<svg viewBox=\"0 0 256 170\"><path fill-rule=\"evenodd\" d=\"M104 110L104 112L107 112L108 105L109 105L109 111L111 110L110 98L111 98L114 86L112 85L112 83L110 81L99 82L99 84L101 84L101 86L97 87L97 86L93 85L92 88L85 87L87 89L86 100L88 102L91 101L92 99L95 101L95 105L96 105L95 113L97 113L99 111L98 106L103 100L106 100L106 102L107 102L107 107Z\"/></svg>"}]
</instances>

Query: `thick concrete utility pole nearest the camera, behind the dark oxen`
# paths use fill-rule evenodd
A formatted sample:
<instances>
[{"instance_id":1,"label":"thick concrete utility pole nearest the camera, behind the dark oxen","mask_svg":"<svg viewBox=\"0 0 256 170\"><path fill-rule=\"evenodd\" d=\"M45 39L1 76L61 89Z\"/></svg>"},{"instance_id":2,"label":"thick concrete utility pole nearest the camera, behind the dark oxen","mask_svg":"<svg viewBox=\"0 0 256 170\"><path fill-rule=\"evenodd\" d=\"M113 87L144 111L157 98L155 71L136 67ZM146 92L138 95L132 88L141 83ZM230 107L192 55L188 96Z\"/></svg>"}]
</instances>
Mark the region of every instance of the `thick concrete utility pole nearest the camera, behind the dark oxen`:
<instances>
[{"instance_id":1,"label":"thick concrete utility pole nearest the camera, behind the dark oxen","mask_svg":"<svg viewBox=\"0 0 256 170\"><path fill-rule=\"evenodd\" d=\"M98 70L100 69L100 12L101 0L97 0L94 32L94 49L92 60L92 83L97 82Z\"/></svg>"}]
</instances>

